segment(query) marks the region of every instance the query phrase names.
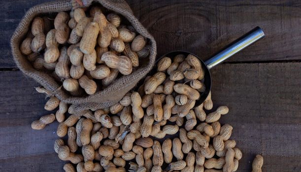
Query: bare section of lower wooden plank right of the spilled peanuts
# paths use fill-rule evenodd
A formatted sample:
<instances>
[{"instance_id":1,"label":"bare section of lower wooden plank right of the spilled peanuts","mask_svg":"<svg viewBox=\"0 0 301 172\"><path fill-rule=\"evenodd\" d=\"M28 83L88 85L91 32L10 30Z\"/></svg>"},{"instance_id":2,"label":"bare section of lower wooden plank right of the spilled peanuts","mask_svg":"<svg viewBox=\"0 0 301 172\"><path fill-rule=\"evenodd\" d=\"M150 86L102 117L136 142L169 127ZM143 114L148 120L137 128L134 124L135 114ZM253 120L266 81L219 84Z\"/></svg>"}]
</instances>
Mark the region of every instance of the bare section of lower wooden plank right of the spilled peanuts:
<instances>
[{"instance_id":1,"label":"bare section of lower wooden plank right of the spilled peanuts","mask_svg":"<svg viewBox=\"0 0 301 172\"><path fill-rule=\"evenodd\" d=\"M256 154L263 172L301 171L301 63L223 64L212 69L214 109L233 126L243 152L238 172L250 172Z\"/></svg>"}]
</instances>

